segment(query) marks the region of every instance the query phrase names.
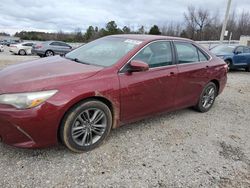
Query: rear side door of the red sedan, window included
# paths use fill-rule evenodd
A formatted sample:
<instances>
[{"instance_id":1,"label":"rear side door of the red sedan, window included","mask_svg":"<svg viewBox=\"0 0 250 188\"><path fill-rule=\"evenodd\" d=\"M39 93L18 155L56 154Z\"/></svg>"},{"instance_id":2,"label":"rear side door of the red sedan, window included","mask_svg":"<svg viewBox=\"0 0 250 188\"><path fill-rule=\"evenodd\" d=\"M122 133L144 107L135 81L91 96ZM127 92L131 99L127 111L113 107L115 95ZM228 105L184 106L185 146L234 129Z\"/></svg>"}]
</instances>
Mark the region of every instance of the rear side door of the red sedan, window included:
<instances>
[{"instance_id":1,"label":"rear side door of the red sedan, window included","mask_svg":"<svg viewBox=\"0 0 250 188\"><path fill-rule=\"evenodd\" d=\"M195 105L210 74L209 56L189 42L174 41L178 60L177 108Z\"/></svg>"}]
</instances>

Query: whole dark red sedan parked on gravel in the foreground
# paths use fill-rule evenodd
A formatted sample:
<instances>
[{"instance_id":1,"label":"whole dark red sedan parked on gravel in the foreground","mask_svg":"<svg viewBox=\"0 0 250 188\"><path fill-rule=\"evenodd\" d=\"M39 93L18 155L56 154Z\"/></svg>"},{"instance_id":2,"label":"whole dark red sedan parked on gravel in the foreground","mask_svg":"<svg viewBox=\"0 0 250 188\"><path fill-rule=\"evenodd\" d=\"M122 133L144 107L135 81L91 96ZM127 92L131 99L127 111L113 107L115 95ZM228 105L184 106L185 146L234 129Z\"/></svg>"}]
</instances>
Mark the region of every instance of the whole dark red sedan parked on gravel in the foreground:
<instances>
[{"instance_id":1,"label":"whole dark red sedan parked on gravel in the foreground","mask_svg":"<svg viewBox=\"0 0 250 188\"><path fill-rule=\"evenodd\" d=\"M74 152L100 145L113 128L161 112L208 111L227 65L191 40L108 36L0 71L0 138L37 148L58 141Z\"/></svg>"}]
</instances>

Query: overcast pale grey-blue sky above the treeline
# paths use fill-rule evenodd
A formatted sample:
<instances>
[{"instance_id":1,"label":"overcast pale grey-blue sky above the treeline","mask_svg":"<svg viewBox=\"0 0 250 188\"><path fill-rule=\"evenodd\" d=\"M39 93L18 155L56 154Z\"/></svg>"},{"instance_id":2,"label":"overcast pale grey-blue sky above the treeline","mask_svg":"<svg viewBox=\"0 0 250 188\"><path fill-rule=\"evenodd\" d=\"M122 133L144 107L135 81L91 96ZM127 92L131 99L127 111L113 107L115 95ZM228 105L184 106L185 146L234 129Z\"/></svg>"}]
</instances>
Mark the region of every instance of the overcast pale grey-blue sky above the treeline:
<instances>
[{"instance_id":1,"label":"overcast pale grey-blue sky above the treeline","mask_svg":"<svg viewBox=\"0 0 250 188\"><path fill-rule=\"evenodd\" d=\"M250 10L250 0L232 0L236 12ZM227 0L1 0L0 32L21 30L83 31L89 25L104 27L114 20L119 27L136 29L183 21L187 6L194 5L224 17Z\"/></svg>"}]
</instances>

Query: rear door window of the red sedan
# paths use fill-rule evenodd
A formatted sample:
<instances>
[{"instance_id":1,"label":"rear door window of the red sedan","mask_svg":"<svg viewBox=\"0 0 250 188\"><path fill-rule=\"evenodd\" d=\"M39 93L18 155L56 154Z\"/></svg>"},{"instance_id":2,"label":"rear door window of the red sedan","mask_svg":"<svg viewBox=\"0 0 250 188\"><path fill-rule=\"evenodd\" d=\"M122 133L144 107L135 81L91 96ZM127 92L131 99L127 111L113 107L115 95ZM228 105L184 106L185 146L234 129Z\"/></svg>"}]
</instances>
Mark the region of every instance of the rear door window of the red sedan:
<instances>
[{"instance_id":1,"label":"rear door window of the red sedan","mask_svg":"<svg viewBox=\"0 0 250 188\"><path fill-rule=\"evenodd\" d=\"M175 42L179 63L199 62L198 51L195 46L184 42Z\"/></svg>"}]
</instances>

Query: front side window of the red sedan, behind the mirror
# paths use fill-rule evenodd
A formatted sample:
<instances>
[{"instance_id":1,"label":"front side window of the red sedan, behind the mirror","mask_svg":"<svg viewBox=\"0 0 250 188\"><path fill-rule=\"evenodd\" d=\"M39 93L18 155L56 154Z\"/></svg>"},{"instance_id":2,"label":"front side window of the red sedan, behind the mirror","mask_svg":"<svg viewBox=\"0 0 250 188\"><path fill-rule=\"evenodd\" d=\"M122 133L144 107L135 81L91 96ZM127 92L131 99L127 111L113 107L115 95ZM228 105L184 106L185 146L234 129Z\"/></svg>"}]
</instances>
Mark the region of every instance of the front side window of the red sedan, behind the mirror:
<instances>
[{"instance_id":1,"label":"front side window of the red sedan, behind the mirror","mask_svg":"<svg viewBox=\"0 0 250 188\"><path fill-rule=\"evenodd\" d=\"M140 51L133 60L141 60L150 68L172 65L171 44L167 41L154 42Z\"/></svg>"}]
</instances>

